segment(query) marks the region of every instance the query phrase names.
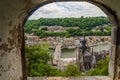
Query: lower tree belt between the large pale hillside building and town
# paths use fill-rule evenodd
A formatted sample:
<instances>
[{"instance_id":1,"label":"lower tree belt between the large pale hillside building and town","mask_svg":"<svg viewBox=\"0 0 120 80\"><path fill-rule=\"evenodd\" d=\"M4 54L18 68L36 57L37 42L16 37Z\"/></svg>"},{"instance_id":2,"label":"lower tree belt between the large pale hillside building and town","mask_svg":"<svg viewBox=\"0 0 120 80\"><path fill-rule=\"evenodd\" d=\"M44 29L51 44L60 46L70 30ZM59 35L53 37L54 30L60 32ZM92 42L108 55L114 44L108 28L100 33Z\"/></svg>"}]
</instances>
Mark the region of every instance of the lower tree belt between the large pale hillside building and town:
<instances>
[{"instance_id":1,"label":"lower tree belt between the large pale hillside building and town","mask_svg":"<svg viewBox=\"0 0 120 80\"><path fill-rule=\"evenodd\" d=\"M39 36L41 38L49 37L49 36L72 37L72 36L82 36L83 34L85 34L86 36L91 36L91 35L110 36L111 28L112 28L111 25L104 27L104 31L101 31L100 28L93 28L92 30L69 28L66 30L66 32L46 32L44 28L41 28L41 29L35 29L33 33L34 35Z\"/></svg>"}]
</instances>

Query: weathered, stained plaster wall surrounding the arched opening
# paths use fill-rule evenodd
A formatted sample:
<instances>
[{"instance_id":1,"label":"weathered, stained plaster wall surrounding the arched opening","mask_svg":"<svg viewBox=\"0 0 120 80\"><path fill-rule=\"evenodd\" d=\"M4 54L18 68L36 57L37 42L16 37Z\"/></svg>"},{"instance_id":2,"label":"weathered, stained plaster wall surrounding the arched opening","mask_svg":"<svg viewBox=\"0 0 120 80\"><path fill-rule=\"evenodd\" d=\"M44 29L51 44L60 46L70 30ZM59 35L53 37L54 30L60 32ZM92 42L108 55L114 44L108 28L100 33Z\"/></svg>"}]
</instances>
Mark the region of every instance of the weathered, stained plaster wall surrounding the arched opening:
<instances>
[{"instance_id":1,"label":"weathered, stained plaster wall surrounding the arched opening","mask_svg":"<svg viewBox=\"0 0 120 80\"><path fill-rule=\"evenodd\" d=\"M26 80L23 25L38 5L71 0L1 0L0 1L0 80ZM120 0L89 1L103 9L112 20L110 76L120 80ZM108 10L108 11L107 11Z\"/></svg>"}]
</instances>

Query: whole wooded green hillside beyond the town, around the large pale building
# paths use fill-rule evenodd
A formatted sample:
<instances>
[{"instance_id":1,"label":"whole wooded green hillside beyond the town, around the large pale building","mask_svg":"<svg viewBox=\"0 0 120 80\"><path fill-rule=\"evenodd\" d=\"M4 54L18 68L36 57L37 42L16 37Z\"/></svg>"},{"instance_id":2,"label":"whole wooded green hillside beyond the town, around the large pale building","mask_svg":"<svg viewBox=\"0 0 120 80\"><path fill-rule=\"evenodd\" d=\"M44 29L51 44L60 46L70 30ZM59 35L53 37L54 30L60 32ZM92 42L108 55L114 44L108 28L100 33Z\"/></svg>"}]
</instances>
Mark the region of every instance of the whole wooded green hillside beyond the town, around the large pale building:
<instances>
[{"instance_id":1,"label":"whole wooded green hillside beyond the town, around the large pale building","mask_svg":"<svg viewBox=\"0 0 120 80\"><path fill-rule=\"evenodd\" d=\"M25 24L25 33L34 33L35 35L43 37L71 37L71 36L110 36L111 25L104 27L104 32L96 28L96 26L109 24L106 17L81 17L81 18L40 18L38 20L28 20ZM79 27L78 29L68 28L66 32L46 32L47 26L63 26L63 27ZM46 27L40 27L46 26ZM94 31L92 31L94 30Z\"/></svg>"}]
</instances>

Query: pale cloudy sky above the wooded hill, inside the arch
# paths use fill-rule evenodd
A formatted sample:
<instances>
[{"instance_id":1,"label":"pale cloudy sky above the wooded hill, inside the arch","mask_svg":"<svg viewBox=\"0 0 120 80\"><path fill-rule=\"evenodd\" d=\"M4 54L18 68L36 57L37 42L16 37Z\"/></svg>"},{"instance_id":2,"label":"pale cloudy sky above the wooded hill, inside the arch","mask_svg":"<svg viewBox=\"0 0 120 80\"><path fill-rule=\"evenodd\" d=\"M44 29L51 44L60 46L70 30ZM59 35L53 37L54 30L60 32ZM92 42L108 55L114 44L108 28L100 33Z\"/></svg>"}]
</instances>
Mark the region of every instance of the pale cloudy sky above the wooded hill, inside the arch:
<instances>
[{"instance_id":1,"label":"pale cloudy sky above the wooded hill, inside the arch","mask_svg":"<svg viewBox=\"0 0 120 80\"><path fill-rule=\"evenodd\" d=\"M54 2L37 9L29 19L65 18L65 17L96 17L106 14L88 2Z\"/></svg>"}]
</instances>

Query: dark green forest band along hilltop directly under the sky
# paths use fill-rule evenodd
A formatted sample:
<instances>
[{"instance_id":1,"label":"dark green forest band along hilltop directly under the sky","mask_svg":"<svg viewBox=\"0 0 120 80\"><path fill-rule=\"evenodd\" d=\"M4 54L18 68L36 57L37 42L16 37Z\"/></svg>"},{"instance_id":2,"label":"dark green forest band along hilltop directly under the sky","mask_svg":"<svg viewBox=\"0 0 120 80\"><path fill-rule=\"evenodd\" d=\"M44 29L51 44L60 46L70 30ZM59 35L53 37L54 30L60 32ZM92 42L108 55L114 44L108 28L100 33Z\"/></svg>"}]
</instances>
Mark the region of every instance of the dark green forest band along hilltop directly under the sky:
<instances>
[{"instance_id":1,"label":"dark green forest band along hilltop directly under the sky","mask_svg":"<svg viewBox=\"0 0 120 80\"><path fill-rule=\"evenodd\" d=\"M96 26L109 24L107 17L81 17L81 18L40 18L28 20L25 24L25 32L31 33L32 29L39 29L41 26L63 26L79 27L80 29L91 30Z\"/></svg>"}]
</instances>

